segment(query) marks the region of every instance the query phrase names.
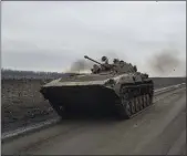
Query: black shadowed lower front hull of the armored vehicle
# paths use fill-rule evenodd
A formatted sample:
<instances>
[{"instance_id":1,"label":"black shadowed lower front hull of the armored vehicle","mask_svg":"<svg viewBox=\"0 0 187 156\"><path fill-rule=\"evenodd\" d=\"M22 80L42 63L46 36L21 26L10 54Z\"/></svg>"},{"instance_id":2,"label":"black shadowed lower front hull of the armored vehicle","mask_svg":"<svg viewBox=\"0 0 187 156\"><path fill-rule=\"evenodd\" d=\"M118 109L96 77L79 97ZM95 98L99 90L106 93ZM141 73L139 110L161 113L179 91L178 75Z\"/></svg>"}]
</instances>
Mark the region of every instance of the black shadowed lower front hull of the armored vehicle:
<instances>
[{"instance_id":1,"label":"black shadowed lower front hull of the armored vehicle","mask_svg":"<svg viewBox=\"0 0 187 156\"><path fill-rule=\"evenodd\" d=\"M41 93L53 105L64 106L69 111L112 108L120 101L114 90L103 85L50 86L42 87Z\"/></svg>"}]
</instances>

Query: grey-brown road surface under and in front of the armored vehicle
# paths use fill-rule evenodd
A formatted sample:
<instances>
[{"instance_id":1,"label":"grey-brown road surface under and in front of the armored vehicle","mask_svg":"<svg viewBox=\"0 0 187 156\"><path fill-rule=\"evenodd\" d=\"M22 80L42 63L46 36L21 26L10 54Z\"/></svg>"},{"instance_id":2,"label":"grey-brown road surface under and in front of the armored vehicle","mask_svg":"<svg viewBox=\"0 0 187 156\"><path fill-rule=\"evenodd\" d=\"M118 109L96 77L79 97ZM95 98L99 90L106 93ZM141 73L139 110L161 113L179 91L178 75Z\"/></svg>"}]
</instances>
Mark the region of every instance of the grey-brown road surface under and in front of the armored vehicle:
<instances>
[{"instance_id":1,"label":"grey-brown road surface under and in front of the armored vehicle","mask_svg":"<svg viewBox=\"0 0 187 156\"><path fill-rule=\"evenodd\" d=\"M155 101L128 121L66 121L2 143L2 154L186 155L186 89Z\"/></svg>"}]
</instances>

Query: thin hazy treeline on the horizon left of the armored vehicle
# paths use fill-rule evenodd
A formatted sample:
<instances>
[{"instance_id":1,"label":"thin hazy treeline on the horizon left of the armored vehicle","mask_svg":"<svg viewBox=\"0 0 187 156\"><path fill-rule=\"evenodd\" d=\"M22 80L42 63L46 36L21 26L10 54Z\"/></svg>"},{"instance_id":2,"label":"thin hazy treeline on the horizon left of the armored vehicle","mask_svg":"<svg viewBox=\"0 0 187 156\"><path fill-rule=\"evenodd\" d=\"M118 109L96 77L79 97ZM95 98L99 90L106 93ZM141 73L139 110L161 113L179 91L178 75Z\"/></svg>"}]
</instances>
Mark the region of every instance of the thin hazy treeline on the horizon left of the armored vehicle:
<instances>
[{"instance_id":1,"label":"thin hazy treeline on the horizon left of the armored vehicle","mask_svg":"<svg viewBox=\"0 0 187 156\"><path fill-rule=\"evenodd\" d=\"M14 70L1 70L1 79L59 79L67 76L70 73L58 73L58 72L33 72L33 71L14 71Z\"/></svg>"}]
</instances>

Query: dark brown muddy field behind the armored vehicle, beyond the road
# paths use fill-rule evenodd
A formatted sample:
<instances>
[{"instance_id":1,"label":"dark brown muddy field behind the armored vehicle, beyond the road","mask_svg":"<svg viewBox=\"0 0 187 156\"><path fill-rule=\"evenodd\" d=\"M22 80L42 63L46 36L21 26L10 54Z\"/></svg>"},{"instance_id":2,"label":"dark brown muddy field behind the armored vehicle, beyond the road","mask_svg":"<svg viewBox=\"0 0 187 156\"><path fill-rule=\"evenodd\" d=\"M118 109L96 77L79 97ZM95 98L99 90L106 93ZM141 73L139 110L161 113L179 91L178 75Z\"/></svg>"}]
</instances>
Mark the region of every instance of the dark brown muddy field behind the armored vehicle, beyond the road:
<instances>
[{"instance_id":1,"label":"dark brown muddy field behind the armored vehicle, beyond the road","mask_svg":"<svg viewBox=\"0 0 187 156\"><path fill-rule=\"evenodd\" d=\"M155 89L186 82L186 77L154 77ZM42 80L1 81L2 133L55 117L39 93Z\"/></svg>"}]
</instances>

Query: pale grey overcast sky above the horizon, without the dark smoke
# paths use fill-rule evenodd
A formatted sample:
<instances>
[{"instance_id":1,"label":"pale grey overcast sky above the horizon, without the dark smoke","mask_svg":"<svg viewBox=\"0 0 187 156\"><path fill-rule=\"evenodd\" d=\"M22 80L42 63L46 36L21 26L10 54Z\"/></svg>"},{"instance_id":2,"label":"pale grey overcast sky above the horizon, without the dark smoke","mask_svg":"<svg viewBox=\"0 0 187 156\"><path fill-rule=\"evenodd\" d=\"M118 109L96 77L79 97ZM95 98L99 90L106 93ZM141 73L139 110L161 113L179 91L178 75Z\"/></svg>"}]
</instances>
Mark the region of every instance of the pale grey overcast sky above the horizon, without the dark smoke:
<instances>
[{"instance_id":1,"label":"pale grey overcast sky above the horizon, without the dark smoke","mask_svg":"<svg viewBox=\"0 0 187 156\"><path fill-rule=\"evenodd\" d=\"M84 54L108 54L153 74L147 60L166 49L186 61L185 1L2 1L1 8L2 67L63 72Z\"/></svg>"}]
</instances>

